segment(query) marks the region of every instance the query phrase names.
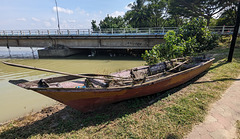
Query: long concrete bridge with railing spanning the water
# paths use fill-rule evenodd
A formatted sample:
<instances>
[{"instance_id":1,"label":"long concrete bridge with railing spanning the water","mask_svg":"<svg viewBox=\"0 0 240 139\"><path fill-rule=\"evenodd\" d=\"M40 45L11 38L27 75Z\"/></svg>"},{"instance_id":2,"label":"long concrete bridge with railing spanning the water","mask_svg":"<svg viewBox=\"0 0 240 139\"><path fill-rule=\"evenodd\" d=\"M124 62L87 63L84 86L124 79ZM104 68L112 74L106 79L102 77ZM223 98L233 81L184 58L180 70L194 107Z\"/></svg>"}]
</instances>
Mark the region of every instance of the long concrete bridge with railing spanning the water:
<instances>
[{"instance_id":1,"label":"long concrete bridge with railing spanning the water","mask_svg":"<svg viewBox=\"0 0 240 139\"><path fill-rule=\"evenodd\" d=\"M176 27L123 28L92 31L61 30L0 30L2 47L43 47L40 57L68 56L84 50L148 50L162 43L165 33ZM219 34L231 34L233 27L210 27Z\"/></svg>"}]
</instances>

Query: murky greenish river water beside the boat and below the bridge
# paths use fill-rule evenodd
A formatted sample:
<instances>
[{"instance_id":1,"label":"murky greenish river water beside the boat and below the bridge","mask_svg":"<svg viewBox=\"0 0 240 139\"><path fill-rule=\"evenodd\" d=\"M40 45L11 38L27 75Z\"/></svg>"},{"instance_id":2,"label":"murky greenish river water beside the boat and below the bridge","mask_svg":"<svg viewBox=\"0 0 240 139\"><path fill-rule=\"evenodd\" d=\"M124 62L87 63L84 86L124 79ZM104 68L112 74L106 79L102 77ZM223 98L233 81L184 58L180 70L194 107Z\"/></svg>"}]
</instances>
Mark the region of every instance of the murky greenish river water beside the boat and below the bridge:
<instances>
[{"instance_id":1,"label":"murky greenish river water beside the boat and below the bridge","mask_svg":"<svg viewBox=\"0 0 240 139\"><path fill-rule=\"evenodd\" d=\"M0 59L5 61L7 59ZM98 57L72 59L12 59L12 63L40 67L50 70L78 73L109 74L123 69L144 65L144 61L133 57ZM47 72L11 67L0 63L0 123L22 117L30 112L51 106L56 101L8 83L9 80L37 80L59 76Z\"/></svg>"}]
</instances>

